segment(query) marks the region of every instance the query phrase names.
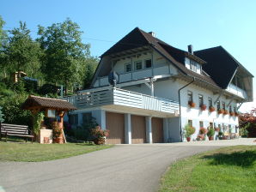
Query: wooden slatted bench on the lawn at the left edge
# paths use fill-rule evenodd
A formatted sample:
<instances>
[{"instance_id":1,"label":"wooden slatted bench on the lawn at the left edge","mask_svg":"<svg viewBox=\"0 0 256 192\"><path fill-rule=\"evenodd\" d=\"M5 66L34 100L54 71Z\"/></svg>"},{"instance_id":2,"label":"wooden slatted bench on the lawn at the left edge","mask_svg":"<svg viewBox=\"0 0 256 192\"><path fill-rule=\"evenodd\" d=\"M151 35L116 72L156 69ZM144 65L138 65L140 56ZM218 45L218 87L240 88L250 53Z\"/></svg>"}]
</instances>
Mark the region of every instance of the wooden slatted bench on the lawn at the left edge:
<instances>
[{"instance_id":1,"label":"wooden slatted bench on the lawn at the left edge","mask_svg":"<svg viewBox=\"0 0 256 192\"><path fill-rule=\"evenodd\" d=\"M6 124L6 123L1 123L0 124L0 140L2 139L2 135L5 136L5 141L7 142L7 137L10 136L19 136L26 138L31 138L31 142L33 143L34 140L34 135L33 131L31 131L31 135L29 135L28 131L28 126L27 125L18 125L18 124Z\"/></svg>"}]
</instances>

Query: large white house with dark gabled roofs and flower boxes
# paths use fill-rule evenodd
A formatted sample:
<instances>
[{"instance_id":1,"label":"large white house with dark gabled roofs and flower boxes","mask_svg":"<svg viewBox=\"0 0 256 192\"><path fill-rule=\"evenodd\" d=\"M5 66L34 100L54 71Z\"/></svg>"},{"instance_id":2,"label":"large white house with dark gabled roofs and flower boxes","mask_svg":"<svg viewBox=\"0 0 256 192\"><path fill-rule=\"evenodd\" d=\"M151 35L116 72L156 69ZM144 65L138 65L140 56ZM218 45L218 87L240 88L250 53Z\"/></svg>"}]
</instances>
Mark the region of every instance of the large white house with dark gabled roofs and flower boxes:
<instances>
[{"instance_id":1,"label":"large white house with dark gabled roofs and flower boxes","mask_svg":"<svg viewBox=\"0 0 256 192\"><path fill-rule=\"evenodd\" d=\"M108 82L113 71L116 87ZM182 51L136 27L101 56L91 89L67 99L78 108L70 121L78 125L95 117L110 130L108 143L186 141L186 123L196 128L192 139L200 127L237 133L234 113L253 100L253 75L222 46Z\"/></svg>"}]
</instances>

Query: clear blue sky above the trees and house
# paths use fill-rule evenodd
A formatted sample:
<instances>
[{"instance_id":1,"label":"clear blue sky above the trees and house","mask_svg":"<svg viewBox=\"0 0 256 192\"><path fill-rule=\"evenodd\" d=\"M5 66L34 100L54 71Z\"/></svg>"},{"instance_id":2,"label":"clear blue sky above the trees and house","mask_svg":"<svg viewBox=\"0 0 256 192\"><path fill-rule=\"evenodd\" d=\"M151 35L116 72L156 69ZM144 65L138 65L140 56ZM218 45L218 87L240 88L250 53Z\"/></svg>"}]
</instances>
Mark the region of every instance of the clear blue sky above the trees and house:
<instances>
[{"instance_id":1,"label":"clear blue sky above the trees and house","mask_svg":"<svg viewBox=\"0 0 256 192\"><path fill-rule=\"evenodd\" d=\"M0 15L6 29L26 21L34 38L37 25L47 27L70 17L81 27L82 40L91 45L94 56L134 27L154 31L157 38L183 50L189 44L195 51L222 45L256 75L255 9L255 0L2 0Z\"/></svg>"}]
</instances>

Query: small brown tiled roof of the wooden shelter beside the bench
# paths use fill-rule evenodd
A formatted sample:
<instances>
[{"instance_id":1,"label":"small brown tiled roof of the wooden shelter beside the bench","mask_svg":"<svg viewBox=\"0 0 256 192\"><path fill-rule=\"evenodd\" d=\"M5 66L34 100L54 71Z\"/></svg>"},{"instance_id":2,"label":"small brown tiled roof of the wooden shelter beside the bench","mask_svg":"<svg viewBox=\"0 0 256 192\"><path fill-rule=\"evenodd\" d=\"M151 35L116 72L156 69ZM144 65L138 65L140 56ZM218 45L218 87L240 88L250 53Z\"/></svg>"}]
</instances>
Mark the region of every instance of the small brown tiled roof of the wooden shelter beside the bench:
<instances>
[{"instance_id":1,"label":"small brown tiled roof of the wooden shelter beside the bench","mask_svg":"<svg viewBox=\"0 0 256 192\"><path fill-rule=\"evenodd\" d=\"M43 98L31 95L27 100L21 105L21 108L24 110L29 110L34 107L40 108L52 108L57 110L76 110L76 107L71 105L68 101L63 99L52 99L52 98Z\"/></svg>"}]
</instances>

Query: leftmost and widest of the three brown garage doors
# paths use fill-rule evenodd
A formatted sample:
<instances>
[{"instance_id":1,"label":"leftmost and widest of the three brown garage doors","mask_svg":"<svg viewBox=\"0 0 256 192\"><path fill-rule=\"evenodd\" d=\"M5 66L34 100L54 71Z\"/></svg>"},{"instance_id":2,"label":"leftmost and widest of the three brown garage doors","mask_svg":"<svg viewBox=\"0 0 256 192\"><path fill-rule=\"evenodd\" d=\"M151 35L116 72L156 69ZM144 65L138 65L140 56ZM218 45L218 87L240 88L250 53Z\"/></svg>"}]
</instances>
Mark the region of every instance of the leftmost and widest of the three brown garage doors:
<instances>
[{"instance_id":1,"label":"leftmost and widest of the three brown garage doors","mask_svg":"<svg viewBox=\"0 0 256 192\"><path fill-rule=\"evenodd\" d=\"M125 143L125 116L124 114L107 112L106 127L109 130L108 144Z\"/></svg>"}]
</instances>

